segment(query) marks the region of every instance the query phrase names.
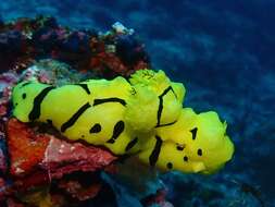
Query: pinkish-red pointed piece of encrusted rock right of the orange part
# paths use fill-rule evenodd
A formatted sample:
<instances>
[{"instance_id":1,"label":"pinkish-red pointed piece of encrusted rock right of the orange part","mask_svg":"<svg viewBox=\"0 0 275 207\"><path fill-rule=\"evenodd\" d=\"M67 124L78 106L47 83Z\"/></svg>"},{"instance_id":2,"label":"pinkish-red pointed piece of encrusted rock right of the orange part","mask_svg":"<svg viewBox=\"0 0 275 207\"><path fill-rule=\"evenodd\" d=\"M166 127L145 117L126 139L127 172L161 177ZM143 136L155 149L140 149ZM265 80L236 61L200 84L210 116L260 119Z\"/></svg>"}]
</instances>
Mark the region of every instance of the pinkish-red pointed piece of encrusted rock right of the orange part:
<instances>
[{"instance_id":1,"label":"pinkish-red pointed piece of encrusted rock right of the orange part","mask_svg":"<svg viewBox=\"0 0 275 207\"><path fill-rule=\"evenodd\" d=\"M101 148L51 137L40 165L51 178L59 179L74 171L104 169L115 159L112 154Z\"/></svg>"}]
</instances>

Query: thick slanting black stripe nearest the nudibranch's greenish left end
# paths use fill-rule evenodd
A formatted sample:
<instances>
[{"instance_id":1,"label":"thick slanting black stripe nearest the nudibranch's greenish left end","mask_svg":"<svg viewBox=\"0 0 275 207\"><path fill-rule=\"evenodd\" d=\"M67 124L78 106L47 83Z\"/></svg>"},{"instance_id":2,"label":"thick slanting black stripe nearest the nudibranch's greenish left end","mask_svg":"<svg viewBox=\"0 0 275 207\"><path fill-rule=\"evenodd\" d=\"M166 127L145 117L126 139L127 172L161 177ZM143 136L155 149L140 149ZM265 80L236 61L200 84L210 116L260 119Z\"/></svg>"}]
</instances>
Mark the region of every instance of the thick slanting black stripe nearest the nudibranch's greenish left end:
<instances>
[{"instance_id":1,"label":"thick slanting black stripe nearest the nudibranch's greenish left end","mask_svg":"<svg viewBox=\"0 0 275 207\"><path fill-rule=\"evenodd\" d=\"M41 104L45 97L54 88L54 86L43 88L34 99L34 106L32 111L28 114L28 119L34 121L40 117L41 113Z\"/></svg>"}]
</instances>

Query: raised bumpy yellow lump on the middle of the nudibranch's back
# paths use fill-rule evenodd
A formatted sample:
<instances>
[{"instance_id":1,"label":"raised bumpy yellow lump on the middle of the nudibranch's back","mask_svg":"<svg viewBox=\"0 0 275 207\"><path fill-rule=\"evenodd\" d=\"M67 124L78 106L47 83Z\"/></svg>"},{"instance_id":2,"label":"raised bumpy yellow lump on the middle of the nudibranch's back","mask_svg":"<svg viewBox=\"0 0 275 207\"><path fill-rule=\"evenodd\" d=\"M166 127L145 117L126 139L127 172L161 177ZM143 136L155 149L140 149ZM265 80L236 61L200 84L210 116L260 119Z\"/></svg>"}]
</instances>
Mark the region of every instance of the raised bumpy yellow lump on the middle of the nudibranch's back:
<instances>
[{"instance_id":1,"label":"raised bumpy yellow lump on the middle of the nudibranch's back","mask_svg":"<svg viewBox=\"0 0 275 207\"><path fill-rule=\"evenodd\" d=\"M129 80L133 93L127 101L125 119L135 131L148 132L177 121L185 87L171 82L163 71L140 70Z\"/></svg>"}]
</instances>

